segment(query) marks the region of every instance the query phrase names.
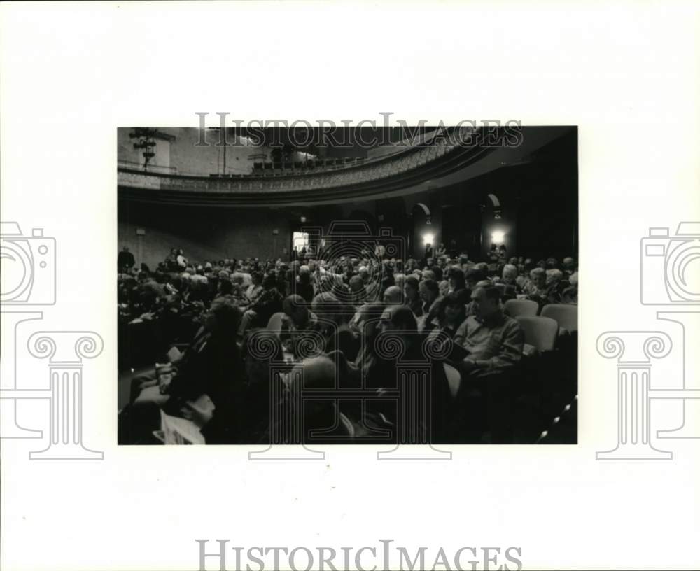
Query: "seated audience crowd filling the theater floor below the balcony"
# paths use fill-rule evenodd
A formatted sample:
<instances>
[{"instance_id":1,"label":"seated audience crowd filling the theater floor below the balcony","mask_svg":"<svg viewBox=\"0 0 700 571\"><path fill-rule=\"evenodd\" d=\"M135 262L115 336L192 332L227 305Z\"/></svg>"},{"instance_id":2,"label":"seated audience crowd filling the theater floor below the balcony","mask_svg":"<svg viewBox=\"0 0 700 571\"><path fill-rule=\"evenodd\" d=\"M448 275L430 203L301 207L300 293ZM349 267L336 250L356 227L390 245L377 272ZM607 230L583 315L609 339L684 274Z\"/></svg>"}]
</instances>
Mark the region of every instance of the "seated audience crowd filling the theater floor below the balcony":
<instances>
[{"instance_id":1,"label":"seated audience crowd filling the theater floor below the balcony","mask_svg":"<svg viewBox=\"0 0 700 571\"><path fill-rule=\"evenodd\" d=\"M120 331L158 324L164 346L186 348L168 362L153 355L162 364L132 379L130 404L120 413L124 443L153 442L159 411L193 421L208 444L279 442L271 411L282 406L303 417L304 435L367 442L384 434L396 442L395 402L381 397L396 386L398 357L382 353L382 334L400 339L401 359L430 361L430 442L509 442L512 434L497 419L512 393L524 332L503 304L577 304L574 258L507 258L505 248L491 251L488 262L464 253L451 258L444 248L420 260L389 258L381 248L325 260L323 248L304 248L288 262L193 262L173 248L153 269L137 267L125 252L118 259ZM449 348L426 357L426 339ZM256 351L261 343L272 350ZM444 362L461 376L456 394ZM275 364L288 374L271 376ZM302 389L338 386L376 398L367 406L290 405ZM290 438L279 443L298 443Z\"/></svg>"}]
</instances>

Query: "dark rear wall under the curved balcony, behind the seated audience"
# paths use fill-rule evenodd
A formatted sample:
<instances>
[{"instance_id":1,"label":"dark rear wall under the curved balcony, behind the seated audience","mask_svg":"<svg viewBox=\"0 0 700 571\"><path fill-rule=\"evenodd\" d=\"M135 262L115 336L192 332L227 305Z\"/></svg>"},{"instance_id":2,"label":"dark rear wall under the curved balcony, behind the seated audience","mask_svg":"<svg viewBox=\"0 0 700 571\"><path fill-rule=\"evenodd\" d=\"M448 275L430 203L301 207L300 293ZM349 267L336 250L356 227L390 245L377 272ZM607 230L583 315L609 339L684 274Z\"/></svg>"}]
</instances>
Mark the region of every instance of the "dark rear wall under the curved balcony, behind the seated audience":
<instances>
[{"instance_id":1,"label":"dark rear wall under the curved balcony, behind the seated audience","mask_svg":"<svg viewBox=\"0 0 700 571\"><path fill-rule=\"evenodd\" d=\"M135 204L118 205L118 239L130 246L138 262L154 266L172 247L193 260L221 258L288 258L291 235L302 226L333 220L363 219L372 232L391 227L405 238L407 253L422 255L421 237L434 234L433 245L455 239L458 250L483 259L496 227L505 229L509 255L563 258L577 250L577 134L543 148L532 162L503 167L458 185L402 198L329 206L269 209ZM498 197L500 220L493 219L487 195ZM414 205L426 204L430 226ZM412 216L413 215L413 216ZM301 223L300 218L307 218ZM137 235L137 229L146 234ZM274 230L278 233L274 234Z\"/></svg>"}]
</instances>

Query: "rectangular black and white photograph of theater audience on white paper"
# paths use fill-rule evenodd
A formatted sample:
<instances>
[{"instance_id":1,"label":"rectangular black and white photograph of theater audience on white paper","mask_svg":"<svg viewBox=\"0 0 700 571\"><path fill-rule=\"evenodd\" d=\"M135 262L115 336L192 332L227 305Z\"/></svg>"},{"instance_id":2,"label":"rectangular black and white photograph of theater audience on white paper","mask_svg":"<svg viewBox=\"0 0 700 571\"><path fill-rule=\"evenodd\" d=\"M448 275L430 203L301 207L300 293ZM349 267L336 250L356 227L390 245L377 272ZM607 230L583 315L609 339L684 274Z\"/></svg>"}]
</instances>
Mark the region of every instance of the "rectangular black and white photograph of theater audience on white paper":
<instances>
[{"instance_id":1,"label":"rectangular black and white photograph of theater audience on white paper","mask_svg":"<svg viewBox=\"0 0 700 571\"><path fill-rule=\"evenodd\" d=\"M118 129L120 444L576 444L577 128L321 127Z\"/></svg>"}]
</instances>

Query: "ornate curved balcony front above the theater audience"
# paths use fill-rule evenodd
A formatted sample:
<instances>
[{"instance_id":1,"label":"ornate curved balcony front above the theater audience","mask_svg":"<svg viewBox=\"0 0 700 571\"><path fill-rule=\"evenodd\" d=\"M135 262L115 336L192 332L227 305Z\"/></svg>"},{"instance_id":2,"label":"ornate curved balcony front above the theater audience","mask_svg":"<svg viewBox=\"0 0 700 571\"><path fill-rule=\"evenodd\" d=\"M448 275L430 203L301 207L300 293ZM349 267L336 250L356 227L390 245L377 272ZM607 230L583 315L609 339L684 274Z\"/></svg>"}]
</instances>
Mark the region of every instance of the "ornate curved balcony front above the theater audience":
<instances>
[{"instance_id":1,"label":"ornate curved balcony front above the theater audience","mask_svg":"<svg viewBox=\"0 0 700 571\"><path fill-rule=\"evenodd\" d=\"M469 143L470 128L413 143L391 155L339 169L277 176L193 176L118 167L119 197L212 206L321 203L370 198L463 169L493 148Z\"/></svg>"}]
</instances>

